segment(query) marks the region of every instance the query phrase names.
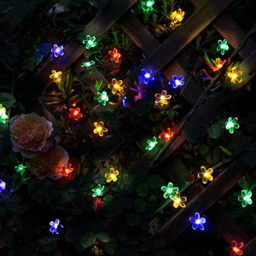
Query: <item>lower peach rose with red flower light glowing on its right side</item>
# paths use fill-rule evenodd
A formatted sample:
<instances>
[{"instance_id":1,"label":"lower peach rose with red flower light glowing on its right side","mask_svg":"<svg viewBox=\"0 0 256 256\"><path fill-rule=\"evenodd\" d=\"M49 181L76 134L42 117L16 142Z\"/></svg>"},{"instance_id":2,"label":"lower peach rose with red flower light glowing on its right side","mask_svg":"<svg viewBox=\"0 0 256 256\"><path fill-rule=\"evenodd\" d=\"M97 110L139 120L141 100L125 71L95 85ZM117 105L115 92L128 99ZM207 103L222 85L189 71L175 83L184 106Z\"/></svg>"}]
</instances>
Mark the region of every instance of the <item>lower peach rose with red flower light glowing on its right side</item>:
<instances>
[{"instance_id":1,"label":"lower peach rose with red flower light glowing on its right side","mask_svg":"<svg viewBox=\"0 0 256 256\"><path fill-rule=\"evenodd\" d=\"M50 177L59 179L62 177L62 168L67 166L69 156L64 148L59 145L50 148L47 152L36 155L26 161L30 172L39 179Z\"/></svg>"}]
</instances>

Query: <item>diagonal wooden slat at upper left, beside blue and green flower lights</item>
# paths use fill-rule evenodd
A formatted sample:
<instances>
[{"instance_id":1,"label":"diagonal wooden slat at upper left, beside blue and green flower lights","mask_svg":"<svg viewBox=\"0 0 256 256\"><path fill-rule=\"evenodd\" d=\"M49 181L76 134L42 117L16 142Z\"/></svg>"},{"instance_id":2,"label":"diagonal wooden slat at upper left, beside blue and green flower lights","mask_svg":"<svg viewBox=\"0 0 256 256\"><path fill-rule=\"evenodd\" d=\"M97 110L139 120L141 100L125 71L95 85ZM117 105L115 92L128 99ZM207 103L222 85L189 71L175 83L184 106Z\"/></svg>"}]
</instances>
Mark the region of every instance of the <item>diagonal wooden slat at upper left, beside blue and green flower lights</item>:
<instances>
[{"instance_id":1,"label":"diagonal wooden slat at upper left, beside blue and green flower lights","mask_svg":"<svg viewBox=\"0 0 256 256\"><path fill-rule=\"evenodd\" d=\"M99 38L102 33L106 32L108 28L136 2L137 0L111 1L106 9L100 11L96 17L85 26L84 32ZM49 80L49 74L52 69L64 72L74 61L83 55L84 51L84 44L73 39L70 43L64 45L65 54L50 61L47 66L38 72L38 75Z\"/></svg>"}]
</instances>

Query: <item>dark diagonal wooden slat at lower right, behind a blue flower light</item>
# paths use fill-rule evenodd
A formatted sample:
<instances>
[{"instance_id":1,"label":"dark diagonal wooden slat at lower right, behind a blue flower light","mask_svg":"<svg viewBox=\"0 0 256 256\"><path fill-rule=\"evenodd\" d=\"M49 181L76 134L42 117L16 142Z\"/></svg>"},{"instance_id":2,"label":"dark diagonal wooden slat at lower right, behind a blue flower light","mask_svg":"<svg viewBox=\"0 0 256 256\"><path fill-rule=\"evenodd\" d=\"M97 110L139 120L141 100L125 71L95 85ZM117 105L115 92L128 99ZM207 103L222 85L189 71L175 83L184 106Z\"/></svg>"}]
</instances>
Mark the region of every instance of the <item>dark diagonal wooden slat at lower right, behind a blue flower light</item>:
<instances>
[{"instance_id":1,"label":"dark diagonal wooden slat at lower right, behind a blue flower light","mask_svg":"<svg viewBox=\"0 0 256 256\"><path fill-rule=\"evenodd\" d=\"M189 217L191 212L199 212L203 214L212 207L222 195L227 193L243 176L245 172L251 170L251 167L234 161L227 169L218 175L205 189L201 191L186 207L181 209L174 217L172 217L160 230L156 236L161 236L166 239L167 243L174 241L183 230L187 229L191 223Z\"/></svg>"}]
</instances>

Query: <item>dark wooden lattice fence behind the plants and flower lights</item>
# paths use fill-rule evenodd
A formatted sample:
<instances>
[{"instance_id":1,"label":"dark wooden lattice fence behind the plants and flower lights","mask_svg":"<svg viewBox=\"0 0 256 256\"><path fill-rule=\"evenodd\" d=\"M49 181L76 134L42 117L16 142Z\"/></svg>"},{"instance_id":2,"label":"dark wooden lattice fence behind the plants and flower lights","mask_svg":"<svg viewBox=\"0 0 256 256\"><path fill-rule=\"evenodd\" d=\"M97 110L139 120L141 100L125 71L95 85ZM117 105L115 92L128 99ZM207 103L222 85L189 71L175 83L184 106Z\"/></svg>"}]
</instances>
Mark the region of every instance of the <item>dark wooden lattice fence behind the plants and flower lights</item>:
<instances>
[{"instance_id":1,"label":"dark wooden lattice fence behind the plants and flower lights","mask_svg":"<svg viewBox=\"0 0 256 256\"><path fill-rule=\"evenodd\" d=\"M133 84L141 70L152 69L153 75L161 72L166 79L171 80L172 75L178 74L184 77L185 81L189 81L183 88L181 94L187 102L194 108L196 102L201 97L201 88L195 83L194 79L181 67L175 56L194 38L196 38L207 26L213 26L222 37L224 37L229 44L236 49L241 44L246 34L237 26L236 22L230 18L229 15L222 14L232 0L190 0L195 5L196 11L190 15L183 25L178 27L166 40L160 44L157 38L149 32L137 18L131 14L131 7L137 0L112 0L108 6L101 10L96 17L85 26L84 33L96 36L99 38L103 33L117 23L119 27L131 38L132 42L143 51L147 56L135 70L133 70L124 80L124 84ZM16 24L15 24L16 26ZM10 29L10 28L9 28ZM56 42L57 43L57 42ZM74 73L80 76L82 71L81 64L86 60L84 57L85 47L76 39L73 39L68 44L64 44L65 55L55 58L50 61L45 67L38 71L38 76L47 79L46 86L52 82L49 80L49 74L52 69L64 72L67 68L72 68ZM243 84L247 84L255 72L256 67L256 45L251 39L247 40L247 44L239 51L242 58L240 65L241 71L248 73L247 78L244 79ZM92 73L84 77L84 82L89 86L90 90L96 95L95 83L96 80L103 80L108 83L96 67L92 67ZM39 104L36 103L38 106ZM39 108L39 107L37 107ZM201 105L201 108L191 116L189 125L185 126L178 136L167 144L166 151L155 162L155 165L160 165L168 157L186 141L187 131L189 126L195 123L195 120L207 114L212 109L212 102L207 100ZM50 114L44 110L49 119ZM179 125L174 127L177 130ZM142 168L150 166L150 162L156 157L156 152L146 152L137 165ZM131 166L131 172L134 166ZM146 167L145 167L146 166ZM153 166L155 167L155 166ZM245 172L251 168L240 160L234 160L221 174L216 177L212 183L203 188L201 184L195 183L188 189L189 203L181 209L175 216L173 216L166 224L164 224L155 236L165 237L166 241L172 242L179 236L183 230L189 226L189 221L185 222L184 219L189 219L191 212L199 212L203 214L208 211L208 218L218 227L219 233L230 244L230 241L235 239L243 241L245 247L243 249L245 255L253 255L256 252L256 240L248 237L240 227L224 212L222 207L216 203L219 198L227 193L243 176ZM154 168L153 168L154 171ZM189 173L188 173L189 176ZM222 188L222 189L219 189ZM216 192L218 190L218 193Z\"/></svg>"}]
</instances>

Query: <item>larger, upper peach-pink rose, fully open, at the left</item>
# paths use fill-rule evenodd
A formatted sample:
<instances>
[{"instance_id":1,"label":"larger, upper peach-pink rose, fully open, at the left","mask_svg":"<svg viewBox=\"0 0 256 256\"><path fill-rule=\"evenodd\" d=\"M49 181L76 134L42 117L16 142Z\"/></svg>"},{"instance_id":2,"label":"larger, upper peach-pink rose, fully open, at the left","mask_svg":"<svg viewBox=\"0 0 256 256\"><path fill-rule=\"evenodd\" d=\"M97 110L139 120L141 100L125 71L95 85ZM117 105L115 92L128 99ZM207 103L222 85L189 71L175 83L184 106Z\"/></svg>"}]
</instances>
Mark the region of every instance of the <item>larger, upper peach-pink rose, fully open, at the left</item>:
<instances>
[{"instance_id":1,"label":"larger, upper peach-pink rose, fully open, at the left","mask_svg":"<svg viewBox=\"0 0 256 256\"><path fill-rule=\"evenodd\" d=\"M52 145L52 123L37 113L21 114L9 121L13 150L31 158L38 151L47 151Z\"/></svg>"}]
</instances>

